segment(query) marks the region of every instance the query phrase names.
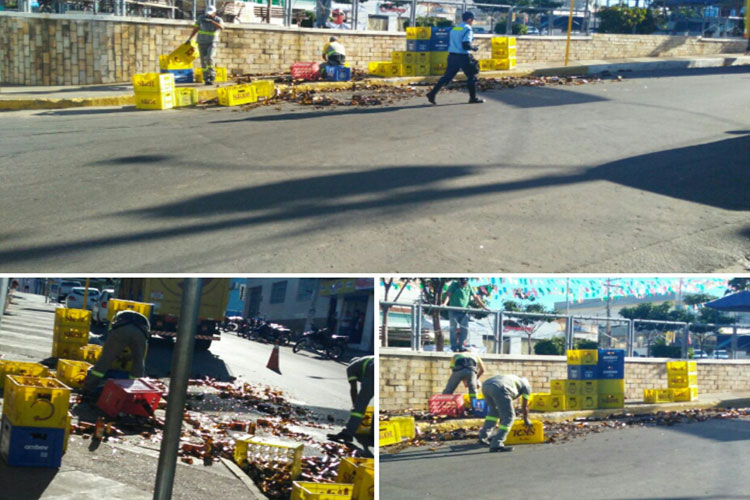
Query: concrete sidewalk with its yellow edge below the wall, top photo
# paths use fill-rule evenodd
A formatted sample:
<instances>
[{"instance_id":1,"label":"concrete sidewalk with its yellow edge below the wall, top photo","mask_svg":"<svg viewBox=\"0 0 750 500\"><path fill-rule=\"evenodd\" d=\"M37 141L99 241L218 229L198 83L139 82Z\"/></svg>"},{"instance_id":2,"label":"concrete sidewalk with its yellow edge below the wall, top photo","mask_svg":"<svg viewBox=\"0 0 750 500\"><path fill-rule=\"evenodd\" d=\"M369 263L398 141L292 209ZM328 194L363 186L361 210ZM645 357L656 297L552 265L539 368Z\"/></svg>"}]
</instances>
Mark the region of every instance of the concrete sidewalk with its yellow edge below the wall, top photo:
<instances>
[{"instance_id":1,"label":"concrete sidewalk with its yellow edge below the wall, top photo","mask_svg":"<svg viewBox=\"0 0 750 500\"><path fill-rule=\"evenodd\" d=\"M601 73L616 74L621 72L675 71L690 68L719 68L726 66L750 65L750 56L742 54L715 54L710 56L690 57L644 57L637 59L608 59L572 61L566 67L562 61L539 62L519 65L510 71L489 71L480 74L480 78L499 78L507 76L591 76ZM461 79L460 75L458 79ZM413 83L433 83L438 76L401 77L401 78L368 78L356 82L311 82L296 85L304 90L352 89L355 86L403 86ZM225 84L228 85L228 84ZM201 100L216 98L216 87L201 84L186 84L180 87L199 89ZM284 90L289 85L277 85ZM132 106L134 104L133 87L129 83L90 86L50 86L0 87L0 110L24 109L64 109L77 107Z\"/></svg>"}]
</instances>

